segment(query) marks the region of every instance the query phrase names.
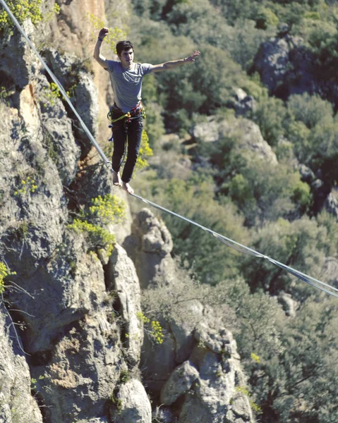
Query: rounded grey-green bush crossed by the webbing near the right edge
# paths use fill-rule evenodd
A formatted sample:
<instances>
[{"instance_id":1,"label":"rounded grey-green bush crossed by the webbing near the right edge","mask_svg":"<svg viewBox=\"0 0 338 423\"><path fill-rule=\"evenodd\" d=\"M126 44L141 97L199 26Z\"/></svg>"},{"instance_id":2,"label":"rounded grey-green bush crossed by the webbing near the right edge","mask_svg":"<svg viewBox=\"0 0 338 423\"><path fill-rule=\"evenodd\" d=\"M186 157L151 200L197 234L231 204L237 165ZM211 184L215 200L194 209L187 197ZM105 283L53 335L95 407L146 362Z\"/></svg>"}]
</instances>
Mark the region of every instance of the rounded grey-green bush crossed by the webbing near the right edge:
<instances>
[{"instance_id":1,"label":"rounded grey-green bush crossed by the webbing near the right edge","mask_svg":"<svg viewBox=\"0 0 338 423\"><path fill-rule=\"evenodd\" d=\"M315 219L303 217L293 222L279 219L268 223L254 234L253 249L269 255L298 271L318 277L325 260L330 240L325 226ZM335 245L332 245L334 247ZM267 260L248 257L243 260L243 274L252 290L262 288L271 295L280 291L291 292L294 298L305 300L313 294L313 288L294 279Z\"/></svg>"}]
</instances>

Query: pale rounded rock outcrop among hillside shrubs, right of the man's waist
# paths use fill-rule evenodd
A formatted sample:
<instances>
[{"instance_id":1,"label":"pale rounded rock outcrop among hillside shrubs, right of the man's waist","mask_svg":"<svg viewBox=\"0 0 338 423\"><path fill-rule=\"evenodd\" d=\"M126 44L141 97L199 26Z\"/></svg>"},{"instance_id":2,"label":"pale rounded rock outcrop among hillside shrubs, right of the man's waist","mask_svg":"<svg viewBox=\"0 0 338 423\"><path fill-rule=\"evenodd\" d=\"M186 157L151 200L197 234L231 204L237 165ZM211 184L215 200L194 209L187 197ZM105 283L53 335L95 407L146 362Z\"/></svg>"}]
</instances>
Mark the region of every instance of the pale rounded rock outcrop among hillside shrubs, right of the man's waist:
<instances>
[{"instance_id":1,"label":"pale rounded rock outcrop among hillside shrubs, right of the man's waist","mask_svg":"<svg viewBox=\"0 0 338 423\"><path fill-rule=\"evenodd\" d=\"M216 142L222 137L236 137L235 148L251 159L264 159L277 164L277 157L270 145L263 140L260 128L253 121L245 118L219 121L210 116L206 122L198 123L193 129L193 136L202 142Z\"/></svg>"}]
</instances>

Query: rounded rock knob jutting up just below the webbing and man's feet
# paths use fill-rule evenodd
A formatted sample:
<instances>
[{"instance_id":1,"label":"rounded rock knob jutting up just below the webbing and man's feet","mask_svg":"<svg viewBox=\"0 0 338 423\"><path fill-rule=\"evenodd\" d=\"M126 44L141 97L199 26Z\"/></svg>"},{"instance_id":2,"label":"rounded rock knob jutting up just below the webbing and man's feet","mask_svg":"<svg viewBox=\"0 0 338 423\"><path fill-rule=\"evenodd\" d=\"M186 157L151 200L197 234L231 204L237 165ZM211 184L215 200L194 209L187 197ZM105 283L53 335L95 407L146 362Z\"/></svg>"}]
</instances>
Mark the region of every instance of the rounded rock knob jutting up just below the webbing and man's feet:
<instances>
[{"instance_id":1,"label":"rounded rock knob jutting up just below the webbing and man's feet","mask_svg":"<svg viewBox=\"0 0 338 423\"><path fill-rule=\"evenodd\" d=\"M149 209L142 209L133 221L131 236L123 247L133 259L141 288L150 283L174 280L171 234Z\"/></svg>"}]
</instances>

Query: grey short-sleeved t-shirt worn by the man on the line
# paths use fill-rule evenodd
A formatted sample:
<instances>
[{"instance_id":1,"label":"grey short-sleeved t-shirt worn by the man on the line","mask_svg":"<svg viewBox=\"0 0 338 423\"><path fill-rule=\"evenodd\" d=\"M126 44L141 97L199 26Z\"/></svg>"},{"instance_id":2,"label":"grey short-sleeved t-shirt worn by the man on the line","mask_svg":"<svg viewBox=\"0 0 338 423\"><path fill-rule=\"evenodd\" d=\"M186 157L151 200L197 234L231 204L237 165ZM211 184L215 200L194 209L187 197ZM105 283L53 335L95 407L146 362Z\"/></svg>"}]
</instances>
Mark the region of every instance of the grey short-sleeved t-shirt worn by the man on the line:
<instances>
[{"instance_id":1,"label":"grey short-sleeved t-shirt worn by the man on the line","mask_svg":"<svg viewBox=\"0 0 338 423\"><path fill-rule=\"evenodd\" d=\"M127 113L140 102L143 76L151 72L152 65L133 63L132 68L125 71L119 61L108 60L107 64L115 103L123 113Z\"/></svg>"}]
</instances>

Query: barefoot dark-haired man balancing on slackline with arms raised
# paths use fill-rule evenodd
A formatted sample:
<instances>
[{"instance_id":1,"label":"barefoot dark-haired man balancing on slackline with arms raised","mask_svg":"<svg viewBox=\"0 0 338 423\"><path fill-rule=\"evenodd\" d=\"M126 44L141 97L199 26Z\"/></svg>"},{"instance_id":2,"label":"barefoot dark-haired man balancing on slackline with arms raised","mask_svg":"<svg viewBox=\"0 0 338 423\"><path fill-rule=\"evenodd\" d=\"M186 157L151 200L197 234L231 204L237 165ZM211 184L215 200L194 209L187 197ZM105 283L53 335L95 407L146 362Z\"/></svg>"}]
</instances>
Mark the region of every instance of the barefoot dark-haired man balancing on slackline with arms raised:
<instances>
[{"instance_id":1,"label":"barefoot dark-haired man balancing on slackline with arms raised","mask_svg":"<svg viewBox=\"0 0 338 423\"><path fill-rule=\"evenodd\" d=\"M141 100L141 88L143 76L174 69L186 63L193 63L200 51L194 51L185 59L169 61L159 65L150 63L134 63L134 49L130 41L120 41L116 44L116 53L120 61L107 60L100 53L101 44L107 36L109 29L104 27L99 31L99 37L94 49L94 58L109 72L111 86L114 91L114 106L111 107L111 122L114 140L114 152L111 159L113 168L113 183L121 185L123 190L133 194L133 188L129 185L133 170L140 150L140 142L143 131L143 114ZM120 167L126 149L128 137L128 149L126 164L123 168L122 178Z\"/></svg>"}]
</instances>

